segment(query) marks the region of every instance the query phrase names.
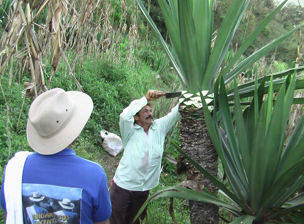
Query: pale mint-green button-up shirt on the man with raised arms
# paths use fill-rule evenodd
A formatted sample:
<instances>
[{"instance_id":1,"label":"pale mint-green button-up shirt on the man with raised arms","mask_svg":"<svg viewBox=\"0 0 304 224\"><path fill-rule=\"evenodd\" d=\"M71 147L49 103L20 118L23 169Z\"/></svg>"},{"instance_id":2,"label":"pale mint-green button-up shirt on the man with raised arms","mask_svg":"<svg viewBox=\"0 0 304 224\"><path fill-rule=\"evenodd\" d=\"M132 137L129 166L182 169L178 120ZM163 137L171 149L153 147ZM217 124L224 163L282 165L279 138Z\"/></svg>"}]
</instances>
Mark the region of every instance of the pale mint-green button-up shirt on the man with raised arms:
<instances>
[{"instance_id":1,"label":"pale mint-green button-up shirt on the man with raised arms","mask_svg":"<svg viewBox=\"0 0 304 224\"><path fill-rule=\"evenodd\" d=\"M133 118L145 105L147 99L142 97L132 101L120 114L124 152L114 182L131 191L146 191L158 185L165 136L180 117L177 104L169 114L153 121L147 135L142 127L134 124Z\"/></svg>"}]
</instances>

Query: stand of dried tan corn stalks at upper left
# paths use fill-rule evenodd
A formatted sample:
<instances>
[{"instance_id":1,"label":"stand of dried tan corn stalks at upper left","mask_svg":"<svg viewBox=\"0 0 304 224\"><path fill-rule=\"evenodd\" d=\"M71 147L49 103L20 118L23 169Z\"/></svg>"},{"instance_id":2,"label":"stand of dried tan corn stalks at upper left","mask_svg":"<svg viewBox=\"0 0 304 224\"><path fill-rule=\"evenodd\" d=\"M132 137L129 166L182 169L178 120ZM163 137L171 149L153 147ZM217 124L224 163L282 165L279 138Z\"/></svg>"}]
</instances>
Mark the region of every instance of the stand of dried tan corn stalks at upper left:
<instances>
[{"instance_id":1,"label":"stand of dried tan corn stalks at upper left","mask_svg":"<svg viewBox=\"0 0 304 224\"><path fill-rule=\"evenodd\" d=\"M82 91L73 71L75 66L82 66L84 55L94 55L97 59L100 53L108 50L120 52L120 42L127 29L127 7L124 1L120 6L122 17L119 28L114 30L110 22L114 8L112 2L105 0L12 1L12 10L7 10L8 22L0 40L1 75L7 71L10 59L11 63L17 61L19 82L23 75L30 74L31 81L24 83L26 97L37 97L41 90L50 88L63 59L69 76ZM134 32L137 31L132 26L130 38L133 42L136 41ZM113 60L120 61L120 54ZM52 67L47 74L49 64Z\"/></svg>"}]
</instances>

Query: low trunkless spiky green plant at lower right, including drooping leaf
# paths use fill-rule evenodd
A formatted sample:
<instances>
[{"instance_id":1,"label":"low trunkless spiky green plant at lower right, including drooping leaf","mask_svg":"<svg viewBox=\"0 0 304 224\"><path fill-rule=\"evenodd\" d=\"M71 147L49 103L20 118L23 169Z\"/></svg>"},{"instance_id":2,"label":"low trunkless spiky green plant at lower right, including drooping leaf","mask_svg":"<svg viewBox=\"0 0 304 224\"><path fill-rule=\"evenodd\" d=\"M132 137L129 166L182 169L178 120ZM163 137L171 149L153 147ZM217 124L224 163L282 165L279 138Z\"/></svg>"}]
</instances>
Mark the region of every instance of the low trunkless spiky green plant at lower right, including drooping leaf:
<instances>
[{"instance_id":1,"label":"low trunkless spiky green plant at lower right, including drooping leaf","mask_svg":"<svg viewBox=\"0 0 304 224\"><path fill-rule=\"evenodd\" d=\"M209 112L207 104L202 100L210 138L222 161L230 188L173 142L203 175L220 188L226 200L219 199L207 188L197 192L175 186L151 195L144 206L155 198L168 196L212 203L227 209L237 216L232 223L284 222L285 215L291 212L303 220L304 213L298 209L304 207L304 193L293 196L304 184L304 116L285 146L285 131L295 90L295 75L291 79L290 76L286 78L275 100L272 78L268 97L263 100L265 80L262 80L259 88L256 85L254 98L245 110L242 110L236 83L233 115L223 78L220 78L220 87L219 82L215 84L216 93L219 89L219 94L215 94L215 102L219 102L221 122L218 114ZM214 103L215 107L218 105ZM221 133L219 123L226 137ZM232 192L229 189L232 189ZM227 200L230 203L227 203Z\"/></svg>"}]
</instances>

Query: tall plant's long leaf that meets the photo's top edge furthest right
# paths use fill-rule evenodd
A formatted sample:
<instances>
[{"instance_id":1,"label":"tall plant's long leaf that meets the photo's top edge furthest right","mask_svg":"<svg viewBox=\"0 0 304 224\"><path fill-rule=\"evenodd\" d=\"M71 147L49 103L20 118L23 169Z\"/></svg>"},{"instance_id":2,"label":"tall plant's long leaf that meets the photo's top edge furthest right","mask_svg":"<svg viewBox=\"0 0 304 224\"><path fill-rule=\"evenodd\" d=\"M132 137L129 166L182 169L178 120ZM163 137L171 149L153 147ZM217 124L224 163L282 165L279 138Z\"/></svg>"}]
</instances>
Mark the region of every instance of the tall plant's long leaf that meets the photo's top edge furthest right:
<instances>
[{"instance_id":1,"label":"tall plant's long leaf that meets the photo's top edge furthest right","mask_svg":"<svg viewBox=\"0 0 304 224\"><path fill-rule=\"evenodd\" d=\"M257 36L263 31L263 29L267 26L267 24L273 19L273 17L278 13L278 11L285 5L287 0L282 2L275 10L273 10L252 32L252 34L243 42L243 44L239 47L237 52L234 54L233 58L223 70L222 75L226 76L226 74L230 71L230 69L235 65L240 56L245 52L245 50L250 46L250 44L257 38Z\"/></svg>"}]
</instances>

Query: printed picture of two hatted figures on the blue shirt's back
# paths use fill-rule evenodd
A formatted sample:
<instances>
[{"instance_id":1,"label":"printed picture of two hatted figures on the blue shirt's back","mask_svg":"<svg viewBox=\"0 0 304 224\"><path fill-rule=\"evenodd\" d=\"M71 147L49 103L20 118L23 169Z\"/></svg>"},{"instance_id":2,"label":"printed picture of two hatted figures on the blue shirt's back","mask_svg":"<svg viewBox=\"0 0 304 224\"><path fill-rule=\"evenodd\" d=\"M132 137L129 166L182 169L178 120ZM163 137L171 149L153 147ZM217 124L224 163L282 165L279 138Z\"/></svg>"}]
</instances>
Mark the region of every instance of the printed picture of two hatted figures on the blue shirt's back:
<instances>
[{"instance_id":1,"label":"printed picture of two hatted figures on the blue shirt's back","mask_svg":"<svg viewBox=\"0 0 304 224\"><path fill-rule=\"evenodd\" d=\"M82 188L22 184L26 224L81 223Z\"/></svg>"}]
</instances>

